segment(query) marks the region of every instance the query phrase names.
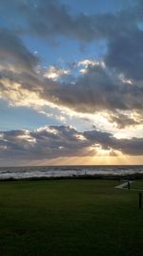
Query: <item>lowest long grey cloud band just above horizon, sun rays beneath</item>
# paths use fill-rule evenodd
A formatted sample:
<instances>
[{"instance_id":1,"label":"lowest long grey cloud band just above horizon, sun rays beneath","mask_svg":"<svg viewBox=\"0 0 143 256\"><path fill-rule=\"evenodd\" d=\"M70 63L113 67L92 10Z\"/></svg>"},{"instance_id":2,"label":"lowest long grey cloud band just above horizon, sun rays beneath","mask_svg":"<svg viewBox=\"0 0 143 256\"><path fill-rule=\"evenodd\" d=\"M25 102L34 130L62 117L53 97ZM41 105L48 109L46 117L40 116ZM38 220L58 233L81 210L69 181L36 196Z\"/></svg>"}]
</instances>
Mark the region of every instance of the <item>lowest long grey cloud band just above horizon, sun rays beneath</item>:
<instances>
[{"instance_id":1,"label":"lowest long grey cloud band just above horizon, sun rays beneath","mask_svg":"<svg viewBox=\"0 0 143 256\"><path fill-rule=\"evenodd\" d=\"M98 145L98 146L97 146ZM143 154L143 138L116 139L112 133L89 130L78 132L71 127L47 127L39 130L0 132L0 159L51 159L67 156L92 156L97 148Z\"/></svg>"}]
</instances>

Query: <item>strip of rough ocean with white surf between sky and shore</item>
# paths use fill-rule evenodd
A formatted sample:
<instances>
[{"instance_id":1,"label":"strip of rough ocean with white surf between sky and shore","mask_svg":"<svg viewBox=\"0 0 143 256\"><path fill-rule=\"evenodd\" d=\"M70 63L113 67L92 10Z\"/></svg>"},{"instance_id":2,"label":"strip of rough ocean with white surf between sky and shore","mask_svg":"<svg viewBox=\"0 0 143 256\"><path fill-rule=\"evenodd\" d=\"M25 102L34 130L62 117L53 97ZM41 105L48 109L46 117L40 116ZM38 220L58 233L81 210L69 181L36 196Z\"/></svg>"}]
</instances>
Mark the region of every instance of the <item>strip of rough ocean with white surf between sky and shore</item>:
<instances>
[{"instance_id":1,"label":"strip of rough ocean with white surf between sky and shore","mask_svg":"<svg viewBox=\"0 0 143 256\"><path fill-rule=\"evenodd\" d=\"M0 167L0 179L64 177L80 175L143 174L143 166L31 166Z\"/></svg>"}]
</instances>

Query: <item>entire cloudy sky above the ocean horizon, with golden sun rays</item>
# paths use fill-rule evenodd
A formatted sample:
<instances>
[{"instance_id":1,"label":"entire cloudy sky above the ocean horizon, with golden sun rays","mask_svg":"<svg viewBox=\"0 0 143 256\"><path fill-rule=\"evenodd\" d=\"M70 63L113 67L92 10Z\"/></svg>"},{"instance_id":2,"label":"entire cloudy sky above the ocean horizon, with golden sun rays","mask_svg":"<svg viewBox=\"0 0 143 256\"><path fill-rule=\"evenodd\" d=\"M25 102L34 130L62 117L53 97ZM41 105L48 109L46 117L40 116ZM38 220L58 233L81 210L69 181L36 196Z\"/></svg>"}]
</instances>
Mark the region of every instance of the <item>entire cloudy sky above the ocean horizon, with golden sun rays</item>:
<instances>
[{"instance_id":1,"label":"entire cloudy sky above the ocean horizon, with golden sun rays","mask_svg":"<svg viewBox=\"0 0 143 256\"><path fill-rule=\"evenodd\" d=\"M0 166L143 164L143 1L0 0Z\"/></svg>"}]
</instances>

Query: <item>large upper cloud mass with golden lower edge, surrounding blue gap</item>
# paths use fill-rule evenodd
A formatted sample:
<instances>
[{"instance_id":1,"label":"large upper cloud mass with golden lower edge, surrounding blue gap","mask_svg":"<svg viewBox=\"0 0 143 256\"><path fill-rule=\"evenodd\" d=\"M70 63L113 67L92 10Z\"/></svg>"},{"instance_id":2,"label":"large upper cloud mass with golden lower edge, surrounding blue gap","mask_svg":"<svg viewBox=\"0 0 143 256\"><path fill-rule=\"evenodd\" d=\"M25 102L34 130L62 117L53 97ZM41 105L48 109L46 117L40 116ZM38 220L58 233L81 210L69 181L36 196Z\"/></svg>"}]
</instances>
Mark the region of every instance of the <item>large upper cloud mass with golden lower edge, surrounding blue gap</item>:
<instances>
[{"instance_id":1,"label":"large upper cloud mass with golden lower edge, surrounding blue gap","mask_svg":"<svg viewBox=\"0 0 143 256\"><path fill-rule=\"evenodd\" d=\"M2 1L4 19L9 12L9 15L16 13L24 20L17 26L17 20L12 19L12 31L9 25L7 29L0 30L1 97L9 100L8 81L9 91L13 87L14 93L18 93L13 85L17 82L18 91L34 91L39 98L76 112L107 110L111 115L108 120L116 123L118 128L141 124L142 117L136 120L129 112L140 114L143 108L142 9L142 2L136 1L128 9L118 12L74 15L70 7L58 1L42 0L35 4L28 1ZM20 38L30 33L45 39L58 35L85 42L104 39L107 42L107 53L103 58L106 68L89 62L86 72L81 72L74 82L56 82L51 76L46 79L40 59L31 53ZM62 69L54 66L52 69L54 77L60 77L59 71ZM129 80L132 84L127 82Z\"/></svg>"}]
</instances>

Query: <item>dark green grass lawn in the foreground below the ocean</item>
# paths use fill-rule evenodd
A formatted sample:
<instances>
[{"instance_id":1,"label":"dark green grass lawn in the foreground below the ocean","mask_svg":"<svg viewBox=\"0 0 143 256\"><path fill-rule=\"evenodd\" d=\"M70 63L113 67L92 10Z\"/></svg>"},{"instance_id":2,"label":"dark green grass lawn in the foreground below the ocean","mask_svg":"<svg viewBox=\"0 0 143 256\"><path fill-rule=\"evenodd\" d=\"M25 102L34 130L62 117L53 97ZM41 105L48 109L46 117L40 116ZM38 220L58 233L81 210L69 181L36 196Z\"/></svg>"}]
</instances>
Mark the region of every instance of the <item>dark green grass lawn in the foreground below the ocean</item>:
<instances>
[{"instance_id":1,"label":"dark green grass lawn in the foreground below the ocean","mask_svg":"<svg viewBox=\"0 0 143 256\"><path fill-rule=\"evenodd\" d=\"M142 256L143 210L117 181L0 183L0 255Z\"/></svg>"}]
</instances>

